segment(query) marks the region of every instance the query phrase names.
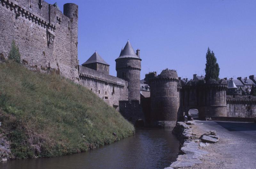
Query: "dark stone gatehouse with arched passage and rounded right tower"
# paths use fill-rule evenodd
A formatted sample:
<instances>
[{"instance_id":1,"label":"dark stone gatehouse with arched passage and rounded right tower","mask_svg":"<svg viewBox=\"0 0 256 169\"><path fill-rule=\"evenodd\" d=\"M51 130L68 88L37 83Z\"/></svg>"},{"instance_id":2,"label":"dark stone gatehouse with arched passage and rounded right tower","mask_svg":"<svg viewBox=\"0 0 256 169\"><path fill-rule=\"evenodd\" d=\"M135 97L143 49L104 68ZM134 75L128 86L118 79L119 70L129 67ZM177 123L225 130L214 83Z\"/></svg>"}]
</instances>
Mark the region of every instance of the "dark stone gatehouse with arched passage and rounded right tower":
<instances>
[{"instance_id":1,"label":"dark stone gatehouse with arched passage and rounded right tower","mask_svg":"<svg viewBox=\"0 0 256 169\"><path fill-rule=\"evenodd\" d=\"M189 109L194 108L198 110L199 116L227 116L228 85L225 79L219 82L209 79L206 83L204 80L192 80L181 85L179 114L186 112L188 115Z\"/></svg>"}]
</instances>

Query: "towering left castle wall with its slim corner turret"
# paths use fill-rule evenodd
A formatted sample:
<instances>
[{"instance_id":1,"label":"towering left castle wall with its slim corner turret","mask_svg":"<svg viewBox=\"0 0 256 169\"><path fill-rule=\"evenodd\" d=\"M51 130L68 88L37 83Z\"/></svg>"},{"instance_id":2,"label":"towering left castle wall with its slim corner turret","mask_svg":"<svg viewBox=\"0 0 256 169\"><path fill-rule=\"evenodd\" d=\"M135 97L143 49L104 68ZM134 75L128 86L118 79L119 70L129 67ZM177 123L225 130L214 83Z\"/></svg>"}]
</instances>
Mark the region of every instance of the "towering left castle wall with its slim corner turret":
<instances>
[{"instance_id":1,"label":"towering left castle wall with its slim corner turret","mask_svg":"<svg viewBox=\"0 0 256 169\"><path fill-rule=\"evenodd\" d=\"M77 81L78 6L65 4L65 16L44 0L0 2L0 54L7 58L14 40L29 69Z\"/></svg>"}]
</instances>

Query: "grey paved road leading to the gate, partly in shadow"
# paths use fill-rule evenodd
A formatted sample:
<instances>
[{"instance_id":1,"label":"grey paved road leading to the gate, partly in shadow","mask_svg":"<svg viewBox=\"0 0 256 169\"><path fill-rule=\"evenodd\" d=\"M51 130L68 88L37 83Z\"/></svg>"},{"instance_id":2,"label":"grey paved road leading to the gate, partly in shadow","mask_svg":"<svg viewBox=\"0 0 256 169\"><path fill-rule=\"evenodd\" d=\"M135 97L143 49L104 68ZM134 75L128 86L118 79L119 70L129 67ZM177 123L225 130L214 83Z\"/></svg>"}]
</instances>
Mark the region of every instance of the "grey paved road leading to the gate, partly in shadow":
<instances>
[{"instance_id":1,"label":"grey paved road leading to the gate, partly in shadow","mask_svg":"<svg viewBox=\"0 0 256 169\"><path fill-rule=\"evenodd\" d=\"M211 153L195 168L256 168L256 123L196 120L196 125L201 132L216 130L220 141L204 148Z\"/></svg>"}]
</instances>

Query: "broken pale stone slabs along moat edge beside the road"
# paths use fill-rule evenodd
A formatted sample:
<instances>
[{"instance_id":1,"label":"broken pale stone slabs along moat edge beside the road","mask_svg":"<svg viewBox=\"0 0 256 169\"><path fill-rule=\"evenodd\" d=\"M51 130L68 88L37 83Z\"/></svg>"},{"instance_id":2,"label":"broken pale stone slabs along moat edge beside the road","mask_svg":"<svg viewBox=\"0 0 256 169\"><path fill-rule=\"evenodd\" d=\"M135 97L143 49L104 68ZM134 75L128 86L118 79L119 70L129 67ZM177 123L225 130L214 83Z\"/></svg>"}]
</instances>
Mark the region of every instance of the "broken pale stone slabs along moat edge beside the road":
<instances>
[{"instance_id":1,"label":"broken pale stone slabs along moat edge beside the road","mask_svg":"<svg viewBox=\"0 0 256 169\"><path fill-rule=\"evenodd\" d=\"M201 150L200 148L209 145L209 143L216 143L219 141L218 136L216 136L216 131L208 131L198 139L196 134L193 134L189 125L195 125L195 122L177 122L176 127L173 129L173 133L177 135L181 142L183 142L180 149L181 154L178 155L176 161L174 161L170 167L164 169L176 169L191 167L195 164L202 164L203 161L201 159L204 155L209 154L209 152ZM207 140L206 143L200 142L205 140Z\"/></svg>"}]
</instances>

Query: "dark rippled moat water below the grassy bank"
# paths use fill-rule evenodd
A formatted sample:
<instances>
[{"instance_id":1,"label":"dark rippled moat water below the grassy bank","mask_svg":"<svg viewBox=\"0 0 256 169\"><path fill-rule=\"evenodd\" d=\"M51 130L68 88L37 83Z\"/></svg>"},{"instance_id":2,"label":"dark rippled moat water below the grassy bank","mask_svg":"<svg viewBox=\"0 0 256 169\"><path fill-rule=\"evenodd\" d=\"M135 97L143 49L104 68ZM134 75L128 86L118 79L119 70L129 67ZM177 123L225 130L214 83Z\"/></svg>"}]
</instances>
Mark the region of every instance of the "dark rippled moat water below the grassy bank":
<instances>
[{"instance_id":1,"label":"dark rippled moat water below the grassy bank","mask_svg":"<svg viewBox=\"0 0 256 169\"><path fill-rule=\"evenodd\" d=\"M179 141L172 129L137 129L134 136L95 150L55 158L11 160L2 169L155 169L175 161Z\"/></svg>"}]
</instances>

